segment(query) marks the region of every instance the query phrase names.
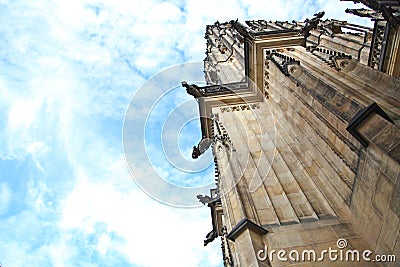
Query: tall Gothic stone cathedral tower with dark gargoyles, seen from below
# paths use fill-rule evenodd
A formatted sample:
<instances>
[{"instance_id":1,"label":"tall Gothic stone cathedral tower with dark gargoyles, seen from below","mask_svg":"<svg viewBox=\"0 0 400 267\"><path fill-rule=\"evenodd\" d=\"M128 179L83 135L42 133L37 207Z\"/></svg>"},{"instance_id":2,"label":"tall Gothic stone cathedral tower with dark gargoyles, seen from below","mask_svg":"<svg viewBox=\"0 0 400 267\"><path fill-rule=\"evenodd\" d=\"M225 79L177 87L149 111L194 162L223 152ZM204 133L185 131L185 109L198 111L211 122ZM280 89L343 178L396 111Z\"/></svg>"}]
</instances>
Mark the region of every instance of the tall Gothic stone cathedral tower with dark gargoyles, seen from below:
<instances>
[{"instance_id":1,"label":"tall Gothic stone cathedral tower with dark gargoyles, seen from below","mask_svg":"<svg viewBox=\"0 0 400 267\"><path fill-rule=\"evenodd\" d=\"M324 12L206 28L207 86L182 85L225 266L400 264L400 1L353 2L373 28Z\"/></svg>"}]
</instances>

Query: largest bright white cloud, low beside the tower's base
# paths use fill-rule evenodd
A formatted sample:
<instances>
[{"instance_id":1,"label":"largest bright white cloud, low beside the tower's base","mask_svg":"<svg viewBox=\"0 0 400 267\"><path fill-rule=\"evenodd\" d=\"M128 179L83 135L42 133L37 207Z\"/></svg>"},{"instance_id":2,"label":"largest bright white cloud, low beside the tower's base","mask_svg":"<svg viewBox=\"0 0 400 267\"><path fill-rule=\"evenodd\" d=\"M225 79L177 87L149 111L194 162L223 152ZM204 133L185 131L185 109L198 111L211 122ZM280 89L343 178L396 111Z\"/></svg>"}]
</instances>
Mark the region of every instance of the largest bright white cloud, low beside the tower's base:
<instances>
[{"instance_id":1,"label":"largest bright white cloud, low beside the tower's base","mask_svg":"<svg viewBox=\"0 0 400 267\"><path fill-rule=\"evenodd\" d=\"M125 174L125 178L129 178ZM209 231L208 209L176 210L149 201L136 189L118 189L110 181L79 182L63 205L62 229L80 229L89 235L98 223L105 223L108 232L123 240L114 241L102 234L97 244L99 253L107 250L123 253L131 263L139 266L161 266L166 259L174 266L197 266L206 261L202 240ZM130 181L123 182L129 185ZM218 255L207 249L210 256ZM174 261L173 259L178 259ZM207 266L216 266L211 261Z\"/></svg>"}]
</instances>

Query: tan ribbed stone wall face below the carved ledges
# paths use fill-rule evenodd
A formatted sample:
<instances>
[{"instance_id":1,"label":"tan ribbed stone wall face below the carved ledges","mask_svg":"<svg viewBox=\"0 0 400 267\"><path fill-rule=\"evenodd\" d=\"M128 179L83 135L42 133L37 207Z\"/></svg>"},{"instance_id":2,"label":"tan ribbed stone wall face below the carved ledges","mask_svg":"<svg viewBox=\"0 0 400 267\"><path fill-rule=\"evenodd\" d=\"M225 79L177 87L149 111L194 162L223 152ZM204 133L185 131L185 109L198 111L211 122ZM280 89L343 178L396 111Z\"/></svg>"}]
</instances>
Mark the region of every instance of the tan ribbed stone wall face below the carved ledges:
<instances>
[{"instance_id":1,"label":"tan ribbed stone wall face below the carved ledges","mask_svg":"<svg viewBox=\"0 0 400 267\"><path fill-rule=\"evenodd\" d=\"M256 260L259 241L253 247L246 242L260 238L270 249L317 253L337 249L344 238L347 249L399 257L399 164L374 144L363 148L346 130L364 105L346 94L347 87L337 88L341 75L324 66L333 72L324 80L300 68L302 63L288 77L266 61L263 102L213 109L230 138L229 147L215 148L222 151L219 187L228 232L244 218L269 231L261 236L244 231L238 240L247 241L230 242L236 258Z\"/></svg>"}]
</instances>

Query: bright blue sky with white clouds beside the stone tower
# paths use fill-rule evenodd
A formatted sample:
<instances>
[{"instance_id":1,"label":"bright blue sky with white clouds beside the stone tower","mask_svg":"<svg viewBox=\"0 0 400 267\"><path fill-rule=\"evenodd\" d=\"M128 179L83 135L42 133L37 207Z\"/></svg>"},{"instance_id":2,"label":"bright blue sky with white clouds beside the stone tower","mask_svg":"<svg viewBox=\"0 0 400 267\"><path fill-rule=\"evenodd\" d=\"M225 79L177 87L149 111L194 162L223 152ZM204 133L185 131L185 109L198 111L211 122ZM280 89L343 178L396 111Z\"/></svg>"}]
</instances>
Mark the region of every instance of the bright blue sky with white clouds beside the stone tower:
<instances>
[{"instance_id":1,"label":"bright blue sky with white clouds beside the stone tower","mask_svg":"<svg viewBox=\"0 0 400 267\"><path fill-rule=\"evenodd\" d=\"M212 155L190 158L197 104L179 85L201 82L205 26L321 10L368 23L344 12L354 6L0 0L1 266L222 266L219 240L203 247L210 211L195 205L213 187ZM157 191L161 180L174 189ZM193 201L171 198L179 188Z\"/></svg>"}]
</instances>

